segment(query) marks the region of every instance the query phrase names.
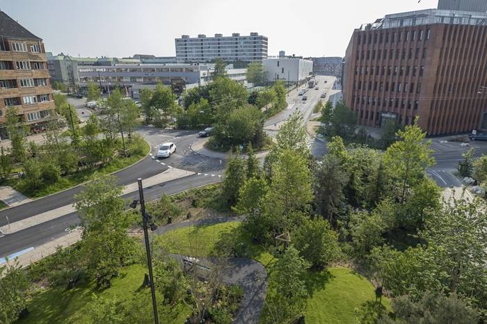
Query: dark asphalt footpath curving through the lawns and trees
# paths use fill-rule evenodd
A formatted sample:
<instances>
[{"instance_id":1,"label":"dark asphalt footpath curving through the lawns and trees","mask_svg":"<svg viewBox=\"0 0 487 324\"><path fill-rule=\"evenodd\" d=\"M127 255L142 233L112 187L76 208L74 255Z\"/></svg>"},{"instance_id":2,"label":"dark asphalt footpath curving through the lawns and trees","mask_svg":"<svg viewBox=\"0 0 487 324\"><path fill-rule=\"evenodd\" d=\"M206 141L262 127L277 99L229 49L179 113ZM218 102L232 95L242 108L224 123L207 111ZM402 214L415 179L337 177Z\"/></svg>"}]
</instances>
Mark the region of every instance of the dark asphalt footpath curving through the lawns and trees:
<instances>
[{"instance_id":1,"label":"dark asphalt footpath curving through the lawns and trees","mask_svg":"<svg viewBox=\"0 0 487 324\"><path fill-rule=\"evenodd\" d=\"M166 225L157 229L154 234L165 234L175 229L190 226L215 225L221 222L241 222L243 216L231 218L210 218L204 220L190 220ZM179 266L182 266L182 255L175 254ZM204 263L211 263L211 259L201 259ZM259 323L260 313L264 307L267 293L267 270L260 262L247 258L229 258L228 268L223 273L225 284L238 284L244 291L239 311L235 316L234 324Z\"/></svg>"}]
</instances>

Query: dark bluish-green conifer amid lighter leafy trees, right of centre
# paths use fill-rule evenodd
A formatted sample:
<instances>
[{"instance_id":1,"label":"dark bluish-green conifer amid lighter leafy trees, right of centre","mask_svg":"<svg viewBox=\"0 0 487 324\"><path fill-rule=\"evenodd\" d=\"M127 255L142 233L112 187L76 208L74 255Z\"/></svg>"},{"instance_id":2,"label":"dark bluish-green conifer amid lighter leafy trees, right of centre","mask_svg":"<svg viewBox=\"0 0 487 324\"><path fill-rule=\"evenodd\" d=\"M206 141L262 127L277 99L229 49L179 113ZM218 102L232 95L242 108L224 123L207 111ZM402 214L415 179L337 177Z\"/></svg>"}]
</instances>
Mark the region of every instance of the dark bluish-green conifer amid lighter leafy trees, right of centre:
<instances>
[{"instance_id":1,"label":"dark bluish-green conifer amid lighter leafy trees, right of centre","mask_svg":"<svg viewBox=\"0 0 487 324\"><path fill-rule=\"evenodd\" d=\"M344 203L343 189L347 181L340 161L333 155L325 155L314 168L314 202L318 213L332 224Z\"/></svg>"}]
</instances>

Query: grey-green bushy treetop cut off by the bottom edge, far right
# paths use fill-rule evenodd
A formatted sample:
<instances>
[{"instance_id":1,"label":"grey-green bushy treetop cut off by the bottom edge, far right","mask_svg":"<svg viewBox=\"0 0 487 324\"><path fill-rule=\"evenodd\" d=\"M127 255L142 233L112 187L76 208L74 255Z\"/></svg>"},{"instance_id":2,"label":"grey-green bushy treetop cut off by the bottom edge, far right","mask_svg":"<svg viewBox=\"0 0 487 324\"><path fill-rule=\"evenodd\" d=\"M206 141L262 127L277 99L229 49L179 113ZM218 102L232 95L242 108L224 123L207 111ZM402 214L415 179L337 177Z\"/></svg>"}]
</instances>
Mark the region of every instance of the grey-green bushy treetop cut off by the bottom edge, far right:
<instances>
[{"instance_id":1,"label":"grey-green bushy treetop cut off by the bottom edge, far right","mask_svg":"<svg viewBox=\"0 0 487 324\"><path fill-rule=\"evenodd\" d=\"M394 318L384 316L381 324L479 323L479 314L456 293L426 292L420 300L402 295L392 300Z\"/></svg>"}]
</instances>

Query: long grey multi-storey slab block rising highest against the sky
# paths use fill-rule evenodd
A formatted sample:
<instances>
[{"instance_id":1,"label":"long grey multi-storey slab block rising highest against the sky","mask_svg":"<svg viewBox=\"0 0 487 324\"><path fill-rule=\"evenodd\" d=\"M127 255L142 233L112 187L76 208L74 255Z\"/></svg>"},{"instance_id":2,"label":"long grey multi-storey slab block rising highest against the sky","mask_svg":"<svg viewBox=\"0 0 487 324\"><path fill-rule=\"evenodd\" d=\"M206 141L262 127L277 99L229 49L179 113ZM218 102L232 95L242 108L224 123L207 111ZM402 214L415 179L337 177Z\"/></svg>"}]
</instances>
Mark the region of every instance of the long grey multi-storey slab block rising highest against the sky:
<instances>
[{"instance_id":1,"label":"long grey multi-storey slab block rising highest against the sky","mask_svg":"<svg viewBox=\"0 0 487 324\"><path fill-rule=\"evenodd\" d=\"M175 39L176 58L178 62L211 62L221 58L227 62L237 60L254 61L267 57L267 38L258 33L241 36L215 34L214 37L198 35L190 38L182 35Z\"/></svg>"}]
</instances>

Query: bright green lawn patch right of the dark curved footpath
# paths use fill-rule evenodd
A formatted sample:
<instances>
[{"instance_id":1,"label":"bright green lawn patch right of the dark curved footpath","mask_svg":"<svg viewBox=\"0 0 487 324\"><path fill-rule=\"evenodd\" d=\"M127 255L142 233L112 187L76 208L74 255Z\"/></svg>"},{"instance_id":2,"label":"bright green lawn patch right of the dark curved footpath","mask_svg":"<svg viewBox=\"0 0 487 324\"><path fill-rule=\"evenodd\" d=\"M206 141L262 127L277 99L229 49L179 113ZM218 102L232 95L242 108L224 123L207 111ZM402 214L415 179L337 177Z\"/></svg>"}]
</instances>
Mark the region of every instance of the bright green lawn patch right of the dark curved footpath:
<instances>
[{"instance_id":1,"label":"bright green lawn patch right of the dark curved footpath","mask_svg":"<svg viewBox=\"0 0 487 324\"><path fill-rule=\"evenodd\" d=\"M354 309L362 302L375 300L374 286L349 268L328 268L306 276L310 298L305 319L307 324L355 323ZM390 311L390 301L382 303Z\"/></svg>"}]
</instances>

